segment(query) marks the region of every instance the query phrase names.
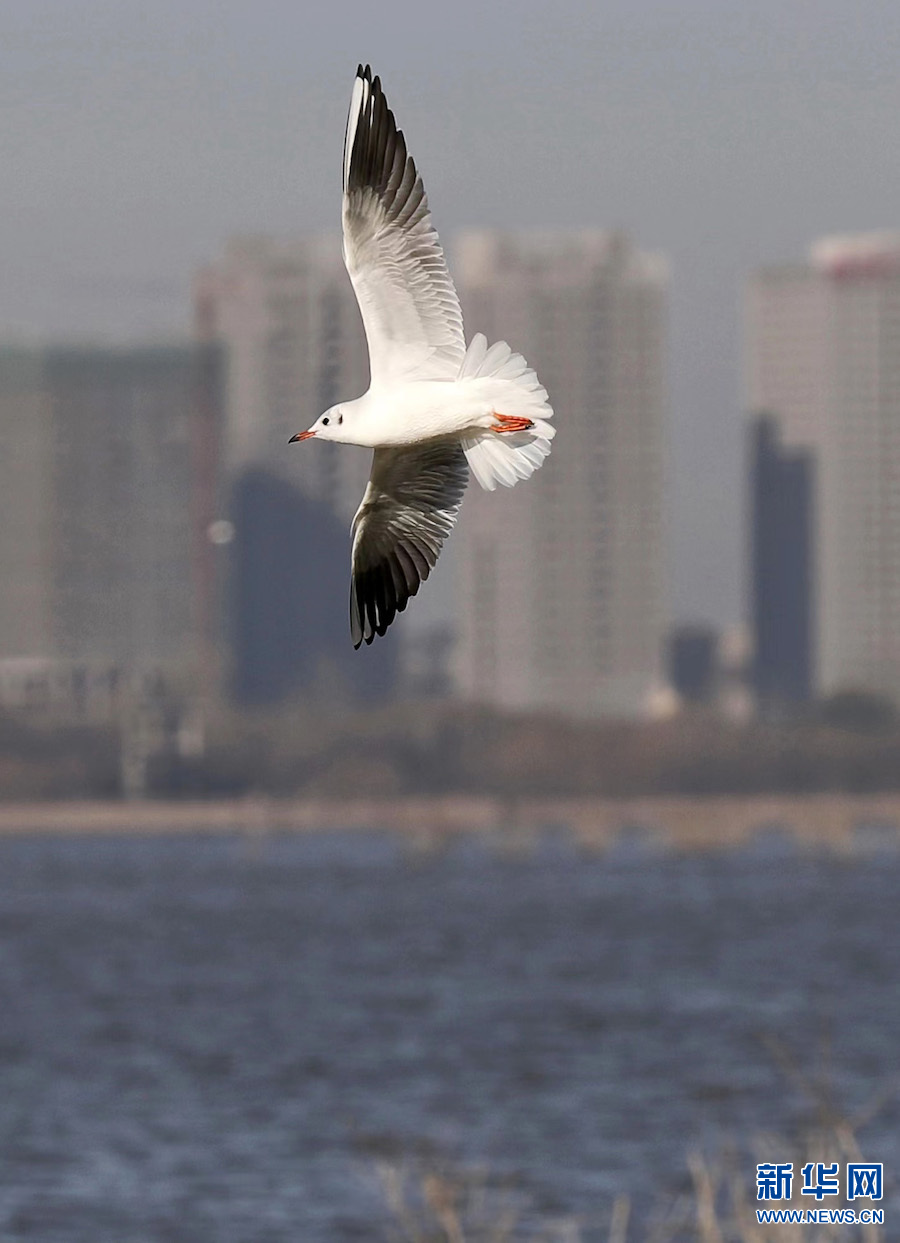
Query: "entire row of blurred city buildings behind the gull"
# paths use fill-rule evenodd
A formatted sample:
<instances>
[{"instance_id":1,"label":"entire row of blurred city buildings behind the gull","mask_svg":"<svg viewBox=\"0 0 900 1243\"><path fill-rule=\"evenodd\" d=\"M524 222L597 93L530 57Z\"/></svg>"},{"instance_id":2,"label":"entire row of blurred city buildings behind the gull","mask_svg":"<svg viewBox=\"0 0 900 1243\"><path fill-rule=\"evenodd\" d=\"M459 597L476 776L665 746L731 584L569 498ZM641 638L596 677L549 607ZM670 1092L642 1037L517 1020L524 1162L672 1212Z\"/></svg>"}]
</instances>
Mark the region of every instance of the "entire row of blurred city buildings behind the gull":
<instances>
[{"instance_id":1,"label":"entire row of blurred city buildings behind the gull","mask_svg":"<svg viewBox=\"0 0 900 1243\"><path fill-rule=\"evenodd\" d=\"M5 706L147 733L298 697L638 720L900 697L900 234L750 281L747 610L723 633L666 607L666 260L614 231L469 231L450 254L469 333L522 351L561 435L527 486L470 488L416 617L362 653L369 454L287 447L368 382L337 237L231 241L189 342L0 353Z\"/></svg>"}]
</instances>

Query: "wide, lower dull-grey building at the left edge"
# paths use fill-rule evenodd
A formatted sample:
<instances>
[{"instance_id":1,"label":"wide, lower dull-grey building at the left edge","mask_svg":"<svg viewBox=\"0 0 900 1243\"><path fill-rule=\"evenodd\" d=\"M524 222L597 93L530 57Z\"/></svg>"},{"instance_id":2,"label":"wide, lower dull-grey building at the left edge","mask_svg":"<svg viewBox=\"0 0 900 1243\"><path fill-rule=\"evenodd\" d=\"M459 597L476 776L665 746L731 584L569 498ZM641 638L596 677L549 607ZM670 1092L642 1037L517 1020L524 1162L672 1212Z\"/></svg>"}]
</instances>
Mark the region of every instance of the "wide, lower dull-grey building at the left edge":
<instances>
[{"instance_id":1,"label":"wide, lower dull-grey building at the left edge","mask_svg":"<svg viewBox=\"0 0 900 1243\"><path fill-rule=\"evenodd\" d=\"M0 358L0 661L45 689L196 671L190 347ZM12 665L10 665L10 661ZM56 691L47 690L53 697Z\"/></svg>"}]
</instances>

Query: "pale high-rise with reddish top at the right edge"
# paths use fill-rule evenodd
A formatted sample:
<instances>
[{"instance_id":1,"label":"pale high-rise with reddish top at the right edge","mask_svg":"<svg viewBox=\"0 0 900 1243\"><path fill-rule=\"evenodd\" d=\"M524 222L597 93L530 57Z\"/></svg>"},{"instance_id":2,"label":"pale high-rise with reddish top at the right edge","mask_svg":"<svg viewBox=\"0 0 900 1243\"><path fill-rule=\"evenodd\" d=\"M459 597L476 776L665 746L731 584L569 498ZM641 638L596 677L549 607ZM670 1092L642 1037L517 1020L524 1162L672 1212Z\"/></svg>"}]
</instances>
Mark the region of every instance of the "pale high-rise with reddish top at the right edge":
<instances>
[{"instance_id":1,"label":"pale high-rise with reddish top at the right edge","mask_svg":"<svg viewBox=\"0 0 900 1243\"><path fill-rule=\"evenodd\" d=\"M748 408L814 457L813 685L900 696L900 232L756 273L747 337Z\"/></svg>"}]
</instances>

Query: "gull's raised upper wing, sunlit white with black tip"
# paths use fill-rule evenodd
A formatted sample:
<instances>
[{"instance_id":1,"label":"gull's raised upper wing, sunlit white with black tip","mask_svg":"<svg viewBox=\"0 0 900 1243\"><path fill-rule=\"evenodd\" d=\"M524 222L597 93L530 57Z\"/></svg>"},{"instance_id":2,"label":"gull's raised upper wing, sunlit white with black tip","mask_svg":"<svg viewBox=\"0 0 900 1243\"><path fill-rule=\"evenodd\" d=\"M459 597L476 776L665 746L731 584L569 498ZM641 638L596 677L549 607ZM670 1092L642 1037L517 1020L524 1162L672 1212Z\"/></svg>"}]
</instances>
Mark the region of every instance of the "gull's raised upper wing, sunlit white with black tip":
<instances>
[{"instance_id":1,"label":"gull's raised upper wing, sunlit white with black tip","mask_svg":"<svg viewBox=\"0 0 900 1243\"><path fill-rule=\"evenodd\" d=\"M360 65L347 118L343 252L373 387L455 379L462 314L428 199L378 78Z\"/></svg>"}]
</instances>

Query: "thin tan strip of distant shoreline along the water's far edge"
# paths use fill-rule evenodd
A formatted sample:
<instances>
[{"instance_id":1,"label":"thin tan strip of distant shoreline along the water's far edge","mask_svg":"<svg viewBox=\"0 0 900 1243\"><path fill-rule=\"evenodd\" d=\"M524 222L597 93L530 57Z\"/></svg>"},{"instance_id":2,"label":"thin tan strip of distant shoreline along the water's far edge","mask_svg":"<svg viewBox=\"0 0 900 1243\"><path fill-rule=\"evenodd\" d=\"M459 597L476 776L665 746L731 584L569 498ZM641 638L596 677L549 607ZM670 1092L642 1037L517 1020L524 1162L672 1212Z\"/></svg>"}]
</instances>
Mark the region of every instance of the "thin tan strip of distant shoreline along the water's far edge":
<instances>
[{"instance_id":1,"label":"thin tan strip of distant shoreline along the water's far edge","mask_svg":"<svg viewBox=\"0 0 900 1243\"><path fill-rule=\"evenodd\" d=\"M264 797L219 800L40 802L0 804L0 835L390 832L423 848L460 834L510 844L567 832L587 849L624 838L709 850L760 834L852 853L900 846L900 794L687 796L649 798L494 798L464 794L389 798Z\"/></svg>"}]
</instances>

